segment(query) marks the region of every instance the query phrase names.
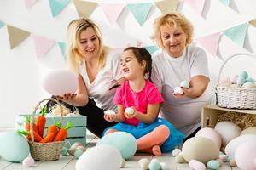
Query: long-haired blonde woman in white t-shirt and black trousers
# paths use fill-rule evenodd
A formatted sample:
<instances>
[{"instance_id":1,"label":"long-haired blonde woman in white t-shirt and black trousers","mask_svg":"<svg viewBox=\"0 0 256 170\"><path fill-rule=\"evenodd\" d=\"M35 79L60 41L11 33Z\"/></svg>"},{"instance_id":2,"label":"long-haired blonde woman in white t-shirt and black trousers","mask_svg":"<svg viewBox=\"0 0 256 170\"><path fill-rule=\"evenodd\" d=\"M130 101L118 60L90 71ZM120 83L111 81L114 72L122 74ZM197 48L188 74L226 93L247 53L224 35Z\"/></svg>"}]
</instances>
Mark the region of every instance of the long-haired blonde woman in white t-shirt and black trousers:
<instances>
[{"instance_id":1,"label":"long-haired blonde woman in white t-shirt and black trousers","mask_svg":"<svg viewBox=\"0 0 256 170\"><path fill-rule=\"evenodd\" d=\"M87 128L101 137L106 127L116 124L105 121L103 112L117 111L112 100L116 87L124 82L119 69L122 50L103 46L98 26L89 19L71 21L67 36L67 62L78 76L78 88L75 94L64 94L57 99L80 106L79 113L87 116Z\"/></svg>"}]
</instances>

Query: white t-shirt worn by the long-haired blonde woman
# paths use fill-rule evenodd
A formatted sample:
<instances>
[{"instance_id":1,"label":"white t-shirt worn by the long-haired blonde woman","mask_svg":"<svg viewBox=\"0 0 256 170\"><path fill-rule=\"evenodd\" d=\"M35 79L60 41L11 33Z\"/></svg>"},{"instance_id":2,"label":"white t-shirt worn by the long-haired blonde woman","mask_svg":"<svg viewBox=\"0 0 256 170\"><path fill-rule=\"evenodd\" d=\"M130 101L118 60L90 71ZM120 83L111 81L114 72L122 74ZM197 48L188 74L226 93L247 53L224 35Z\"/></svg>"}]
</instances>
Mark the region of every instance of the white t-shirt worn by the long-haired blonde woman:
<instances>
[{"instance_id":1,"label":"white t-shirt worn by the long-haired blonde woman","mask_svg":"<svg viewBox=\"0 0 256 170\"><path fill-rule=\"evenodd\" d=\"M111 90L109 88L117 84L117 80L123 77L120 69L120 54L122 52L122 49L110 48L108 50L106 65L98 72L93 82L89 81L85 61L79 65L79 74L84 79L89 98L94 99L96 105L104 111L117 111L116 105L112 102L116 88Z\"/></svg>"}]
</instances>

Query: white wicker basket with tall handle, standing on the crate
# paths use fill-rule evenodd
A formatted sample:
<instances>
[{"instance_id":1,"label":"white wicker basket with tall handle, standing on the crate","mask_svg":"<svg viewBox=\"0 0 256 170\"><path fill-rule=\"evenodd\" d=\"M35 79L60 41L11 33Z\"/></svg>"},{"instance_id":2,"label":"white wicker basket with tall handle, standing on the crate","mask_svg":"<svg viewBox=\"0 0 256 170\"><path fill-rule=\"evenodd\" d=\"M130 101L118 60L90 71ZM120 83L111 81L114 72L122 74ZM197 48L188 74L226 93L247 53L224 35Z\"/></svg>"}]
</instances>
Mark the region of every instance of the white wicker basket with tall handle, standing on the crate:
<instances>
[{"instance_id":1,"label":"white wicker basket with tall handle, standing on the crate","mask_svg":"<svg viewBox=\"0 0 256 170\"><path fill-rule=\"evenodd\" d=\"M232 58L246 55L256 59L256 56L251 54L235 54L224 61L218 73L218 85L215 88L217 94L217 104L220 107L235 108L235 109L256 109L256 88L233 88L220 86L220 76L224 65Z\"/></svg>"}]
</instances>

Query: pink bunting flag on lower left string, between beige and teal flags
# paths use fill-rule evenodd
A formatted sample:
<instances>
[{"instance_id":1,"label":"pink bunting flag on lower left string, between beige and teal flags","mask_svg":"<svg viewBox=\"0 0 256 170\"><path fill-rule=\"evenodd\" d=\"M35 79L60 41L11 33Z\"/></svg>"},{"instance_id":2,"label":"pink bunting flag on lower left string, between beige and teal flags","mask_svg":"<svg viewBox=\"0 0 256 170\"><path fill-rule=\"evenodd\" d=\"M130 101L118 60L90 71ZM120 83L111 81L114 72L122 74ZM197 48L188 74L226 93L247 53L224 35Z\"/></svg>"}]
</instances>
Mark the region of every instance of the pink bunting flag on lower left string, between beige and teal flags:
<instances>
[{"instance_id":1,"label":"pink bunting flag on lower left string, between beige and teal flags","mask_svg":"<svg viewBox=\"0 0 256 170\"><path fill-rule=\"evenodd\" d=\"M36 48L36 54L39 57L42 57L44 54L46 54L50 48L52 48L56 42L53 40L49 40L45 37L39 37L33 35L33 40Z\"/></svg>"}]
</instances>

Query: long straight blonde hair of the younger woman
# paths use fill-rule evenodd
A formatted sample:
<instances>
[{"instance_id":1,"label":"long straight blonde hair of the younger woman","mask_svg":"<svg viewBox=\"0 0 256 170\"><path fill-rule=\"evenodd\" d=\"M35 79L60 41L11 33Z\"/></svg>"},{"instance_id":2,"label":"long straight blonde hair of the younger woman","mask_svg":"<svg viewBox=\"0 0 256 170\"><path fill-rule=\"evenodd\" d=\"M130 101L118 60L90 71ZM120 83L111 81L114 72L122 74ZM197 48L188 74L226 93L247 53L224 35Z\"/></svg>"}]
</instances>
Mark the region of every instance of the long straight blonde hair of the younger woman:
<instances>
[{"instance_id":1,"label":"long straight blonde hair of the younger woman","mask_svg":"<svg viewBox=\"0 0 256 170\"><path fill-rule=\"evenodd\" d=\"M99 69L106 65L108 48L102 44L102 34L99 27L90 19L81 18L78 20L72 20L67 27L67 63L69 64L70 69L76 74L79 74L79 64L83 60L83 56L78 50L79 36L82 31L89 27L95 31L96 37L100 42L98 51Z\"/></svg>"}]
</instances>

